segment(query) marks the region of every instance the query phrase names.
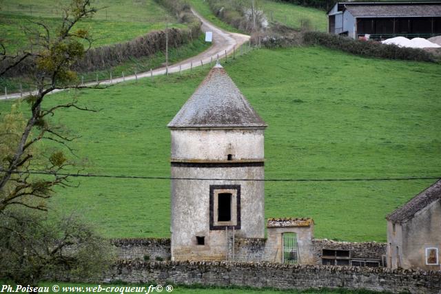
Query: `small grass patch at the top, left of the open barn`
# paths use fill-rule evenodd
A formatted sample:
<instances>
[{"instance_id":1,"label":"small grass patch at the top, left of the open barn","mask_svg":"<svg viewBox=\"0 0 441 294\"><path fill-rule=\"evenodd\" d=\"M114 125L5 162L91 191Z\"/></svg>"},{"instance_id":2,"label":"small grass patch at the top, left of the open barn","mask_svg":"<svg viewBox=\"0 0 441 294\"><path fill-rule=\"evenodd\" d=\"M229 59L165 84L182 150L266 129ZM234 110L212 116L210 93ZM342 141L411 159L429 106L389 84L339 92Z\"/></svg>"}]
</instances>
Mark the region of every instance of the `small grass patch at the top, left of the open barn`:
<instances>
[{"instance_id":1,"label":"small grass patch at the top, left of the open barn","mask_svg":"<svg viewBox=\"0 0 441 294\"><path fill-rule=\"evenodd\" d=\"M327 15L325 10L298 6L274 0L260 0L257 2L267 19L283 23L291 28L301 28L305 21L309 22L312 30L325 32L327 30Z\"/></svg>"}]
</instances>

